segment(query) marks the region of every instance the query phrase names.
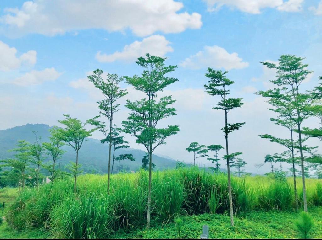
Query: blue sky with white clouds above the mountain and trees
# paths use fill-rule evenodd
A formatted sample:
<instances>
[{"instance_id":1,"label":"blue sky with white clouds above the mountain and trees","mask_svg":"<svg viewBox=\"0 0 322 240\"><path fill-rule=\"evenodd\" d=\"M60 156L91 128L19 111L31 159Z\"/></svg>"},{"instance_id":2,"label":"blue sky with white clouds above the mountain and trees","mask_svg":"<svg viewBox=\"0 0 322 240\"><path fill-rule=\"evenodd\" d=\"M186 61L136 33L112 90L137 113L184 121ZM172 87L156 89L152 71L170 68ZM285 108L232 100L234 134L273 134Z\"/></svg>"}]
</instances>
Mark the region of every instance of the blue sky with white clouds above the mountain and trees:
<instances>
[{"instance_id":1,"label":"blue sky with white clouds above the mountain and trees","mask_svg":"<svg viewBox=\"0 0 322 240\"><path fill-rule=\"evenodd\" d=\"M100 95L86 79L90 71L139 74L135 59L150 52L178 65L172 76L179 79L165 91L177 99L178 115L164 124L178 124L181 131L156 153L189 162L184 149L190 142L223 144L222 114L211 110L217 100L203 89L210 66L229 70L235 81L232 95L244 98L245 106L231 120L246 125L233 133L231 145L232 151L244 152L252 169L266 154L283 150L257 135L287 134L270 123L272 113L254 94L269 88L274 77L259 62L277 61L282 54L306 57L314 74L303 87L310 89L322 75L321 32L321 0L2 0L0 129L57 125L63 113L82 120L97 115ZM122 87L130 92L125 99L140 97ZM118 125L127 113L122 108L116 115Z\"/></svg>"}]
</instances>

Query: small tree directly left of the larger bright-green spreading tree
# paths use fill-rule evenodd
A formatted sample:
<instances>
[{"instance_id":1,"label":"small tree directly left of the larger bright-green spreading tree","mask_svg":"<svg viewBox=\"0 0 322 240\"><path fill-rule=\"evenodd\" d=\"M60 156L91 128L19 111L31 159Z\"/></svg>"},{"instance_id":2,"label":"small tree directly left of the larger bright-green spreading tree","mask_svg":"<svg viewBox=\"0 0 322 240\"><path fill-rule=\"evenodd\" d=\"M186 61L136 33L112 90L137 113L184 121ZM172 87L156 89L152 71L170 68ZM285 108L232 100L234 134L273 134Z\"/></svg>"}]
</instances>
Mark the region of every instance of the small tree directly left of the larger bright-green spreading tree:
<instances>
[{"instance_id":1,"label":"small tree directly left of the larger bright-green spreading tree","mask_svg":"<svg viewBox=\"0 0 322 240\"><path fill-rule=\"evenodd\" d=\"M52 157L52 164L44 165L44 167L50 172L51 174L51 181L54 182L58 171L55 169L55 164L58 159L62 157L62 155L66 152L61 149L62 146L65 144L63 143L62 138L59 136L60 132L57 126L49 129L51 133L50 142L44 142L43 147L46 150L46 154Z\"/></svg>"}]
</instances>

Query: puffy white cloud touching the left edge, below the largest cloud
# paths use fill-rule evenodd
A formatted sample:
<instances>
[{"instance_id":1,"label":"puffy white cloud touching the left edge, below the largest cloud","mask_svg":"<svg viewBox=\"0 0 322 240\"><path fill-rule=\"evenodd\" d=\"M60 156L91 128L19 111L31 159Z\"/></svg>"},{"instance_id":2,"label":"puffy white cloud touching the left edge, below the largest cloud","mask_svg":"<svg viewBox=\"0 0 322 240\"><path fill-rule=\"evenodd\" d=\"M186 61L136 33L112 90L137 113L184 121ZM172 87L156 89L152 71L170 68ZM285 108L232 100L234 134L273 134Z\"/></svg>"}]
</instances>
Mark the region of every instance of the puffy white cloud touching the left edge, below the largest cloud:
<instances>
[{"instance_id":1,"label":"puffy white cloud touching the left edge, below the largest cloud","mask_svg":"<svg viewBox=\"0 0 322 240\"><path fill-rule=\"evenodd\" d=\"M16 56L17 49L10 48L0 41L0 71L11 71L23 65L33 66L37 62L37 52L29 50L20 57Z\"/></svg>"}]
</instances>

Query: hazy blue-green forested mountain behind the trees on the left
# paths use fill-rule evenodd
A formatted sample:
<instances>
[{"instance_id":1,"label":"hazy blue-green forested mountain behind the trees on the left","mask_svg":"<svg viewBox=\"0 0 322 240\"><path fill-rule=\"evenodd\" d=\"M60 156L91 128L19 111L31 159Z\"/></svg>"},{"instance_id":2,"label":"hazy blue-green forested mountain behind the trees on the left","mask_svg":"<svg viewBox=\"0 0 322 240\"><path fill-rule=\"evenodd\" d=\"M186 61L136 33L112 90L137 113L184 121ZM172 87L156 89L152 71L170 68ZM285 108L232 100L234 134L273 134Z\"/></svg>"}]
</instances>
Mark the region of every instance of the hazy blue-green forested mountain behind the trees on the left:
<instances>
[{"instance_id":1,"label":"hazy blue-green forested mountain behind the trees on the left","mask_svg":"<svg viewBox=\"0 0 322 240\"><path fill-rule=\"evenodd\" d=\"M9 149L15 148L18 140L26 140L30 143L35 142L35 135L32 131L37 131L38 136L42 136L42 142L49 141L51 127L46 124L26 124L25 126L17 126L10 129L0 130L0 159L13 157L14 153L8 152ZM70 161L75 161L76 153L70 146L64 146L67 152L59 160L61 166L68 164ZM83 165L85 172L107 173L108 171L108 153L109 148L107 144L101 144L98 139L87 138L79 152L79 163ZM135 161L123 160L120 162L120 167L129 171L136 171L142 166L142 158L145 152L138 149L127 148L118 149L115 155L131 153ZM48 161L50 158L48 158ZM156 170L163 170L166 168L174 168L175 160L165 156L152 156L152 161L156 164ZM112 164L112 163L111 163ZM123 166L121 166L123 165ZM114 162L115 173L118 170L118 162Z\"/></svg>"}]
</instances>

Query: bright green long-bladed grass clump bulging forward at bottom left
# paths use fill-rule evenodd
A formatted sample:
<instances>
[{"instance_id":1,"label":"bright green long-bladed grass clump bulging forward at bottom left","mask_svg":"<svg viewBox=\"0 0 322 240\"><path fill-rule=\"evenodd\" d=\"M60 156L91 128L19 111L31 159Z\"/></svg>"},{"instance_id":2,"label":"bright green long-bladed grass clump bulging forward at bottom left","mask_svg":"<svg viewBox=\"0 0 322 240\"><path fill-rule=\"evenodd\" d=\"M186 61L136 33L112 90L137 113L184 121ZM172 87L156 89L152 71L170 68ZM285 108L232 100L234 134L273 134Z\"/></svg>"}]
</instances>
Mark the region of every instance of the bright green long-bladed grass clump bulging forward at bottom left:
<instances>
[{"instance_id":1,"label":"bright green long-bladed grass clump bulging forward at bottom left","mask_svg":"<svg viewBox=\"0 0 322 240\"><path fill-rule=\"evenodd\" d=\"M108 238L117 221L113 198L69 198L53 209L52 232L56 238Z\"/></svg>"}]
</instances>

